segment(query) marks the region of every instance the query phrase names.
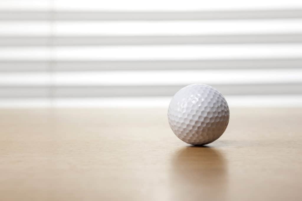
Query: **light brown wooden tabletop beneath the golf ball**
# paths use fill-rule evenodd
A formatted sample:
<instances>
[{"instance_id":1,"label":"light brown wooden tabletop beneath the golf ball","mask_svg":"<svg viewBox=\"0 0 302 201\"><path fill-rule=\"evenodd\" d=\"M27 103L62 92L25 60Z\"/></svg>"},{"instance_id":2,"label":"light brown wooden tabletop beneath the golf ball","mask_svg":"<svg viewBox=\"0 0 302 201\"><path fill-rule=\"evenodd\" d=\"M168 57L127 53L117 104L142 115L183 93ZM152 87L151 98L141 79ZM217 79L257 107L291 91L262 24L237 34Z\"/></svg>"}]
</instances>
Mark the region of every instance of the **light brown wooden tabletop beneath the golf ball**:
<instances>
[{"instance_id":1,"label":"light brown wooden tabletop beneath the golf ball","mask_svg":"<svg viewBox=\"0 0 302 201\"><path fill-rule=\"evenodd\" d=\"M0 200L302 200L302 109L230 113L194 147L163 109L2 109Z\"/></svg>"}]
</instances>

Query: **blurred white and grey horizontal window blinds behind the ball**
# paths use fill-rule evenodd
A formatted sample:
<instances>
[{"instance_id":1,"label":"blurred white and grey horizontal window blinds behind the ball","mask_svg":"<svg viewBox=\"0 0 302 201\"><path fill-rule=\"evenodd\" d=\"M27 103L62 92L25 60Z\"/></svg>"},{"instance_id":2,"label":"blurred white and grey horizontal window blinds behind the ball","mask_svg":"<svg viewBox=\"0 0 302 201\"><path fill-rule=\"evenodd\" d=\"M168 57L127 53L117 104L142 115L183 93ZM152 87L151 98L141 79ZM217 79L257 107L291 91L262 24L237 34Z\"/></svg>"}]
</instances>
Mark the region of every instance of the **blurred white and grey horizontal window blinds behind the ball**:
<instances>
[{"instance_id":1,"label":"blurred white and grey horizontal window blinds behind the ball","mask_svg":"<svg viewBox=\"0 0 302 201\"><path fill-rule=\"evenodd\" d=\"M1 0L0 107L300 107L301 42L300 0Z\"/></svg>"}]
</instances>

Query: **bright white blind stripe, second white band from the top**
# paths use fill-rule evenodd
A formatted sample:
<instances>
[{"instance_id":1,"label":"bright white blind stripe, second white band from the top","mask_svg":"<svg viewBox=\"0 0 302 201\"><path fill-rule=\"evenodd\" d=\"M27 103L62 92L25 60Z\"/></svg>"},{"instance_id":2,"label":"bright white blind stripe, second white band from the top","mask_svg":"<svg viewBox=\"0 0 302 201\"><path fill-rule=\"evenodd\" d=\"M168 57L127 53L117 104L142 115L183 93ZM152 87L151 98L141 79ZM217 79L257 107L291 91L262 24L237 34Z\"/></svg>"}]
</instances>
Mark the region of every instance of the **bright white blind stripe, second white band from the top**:
<instances>
[{"instance_id":1,"label":"bright white blind stripe, second white band from the top","mask_svg":"<svg viewBox=\"0 0 302 201\"><path fill-rule=\"evenodd\" d=\"M298 34L302 19L242 21L0 21L0 36Z\"/></svg>"}]
</instances>

